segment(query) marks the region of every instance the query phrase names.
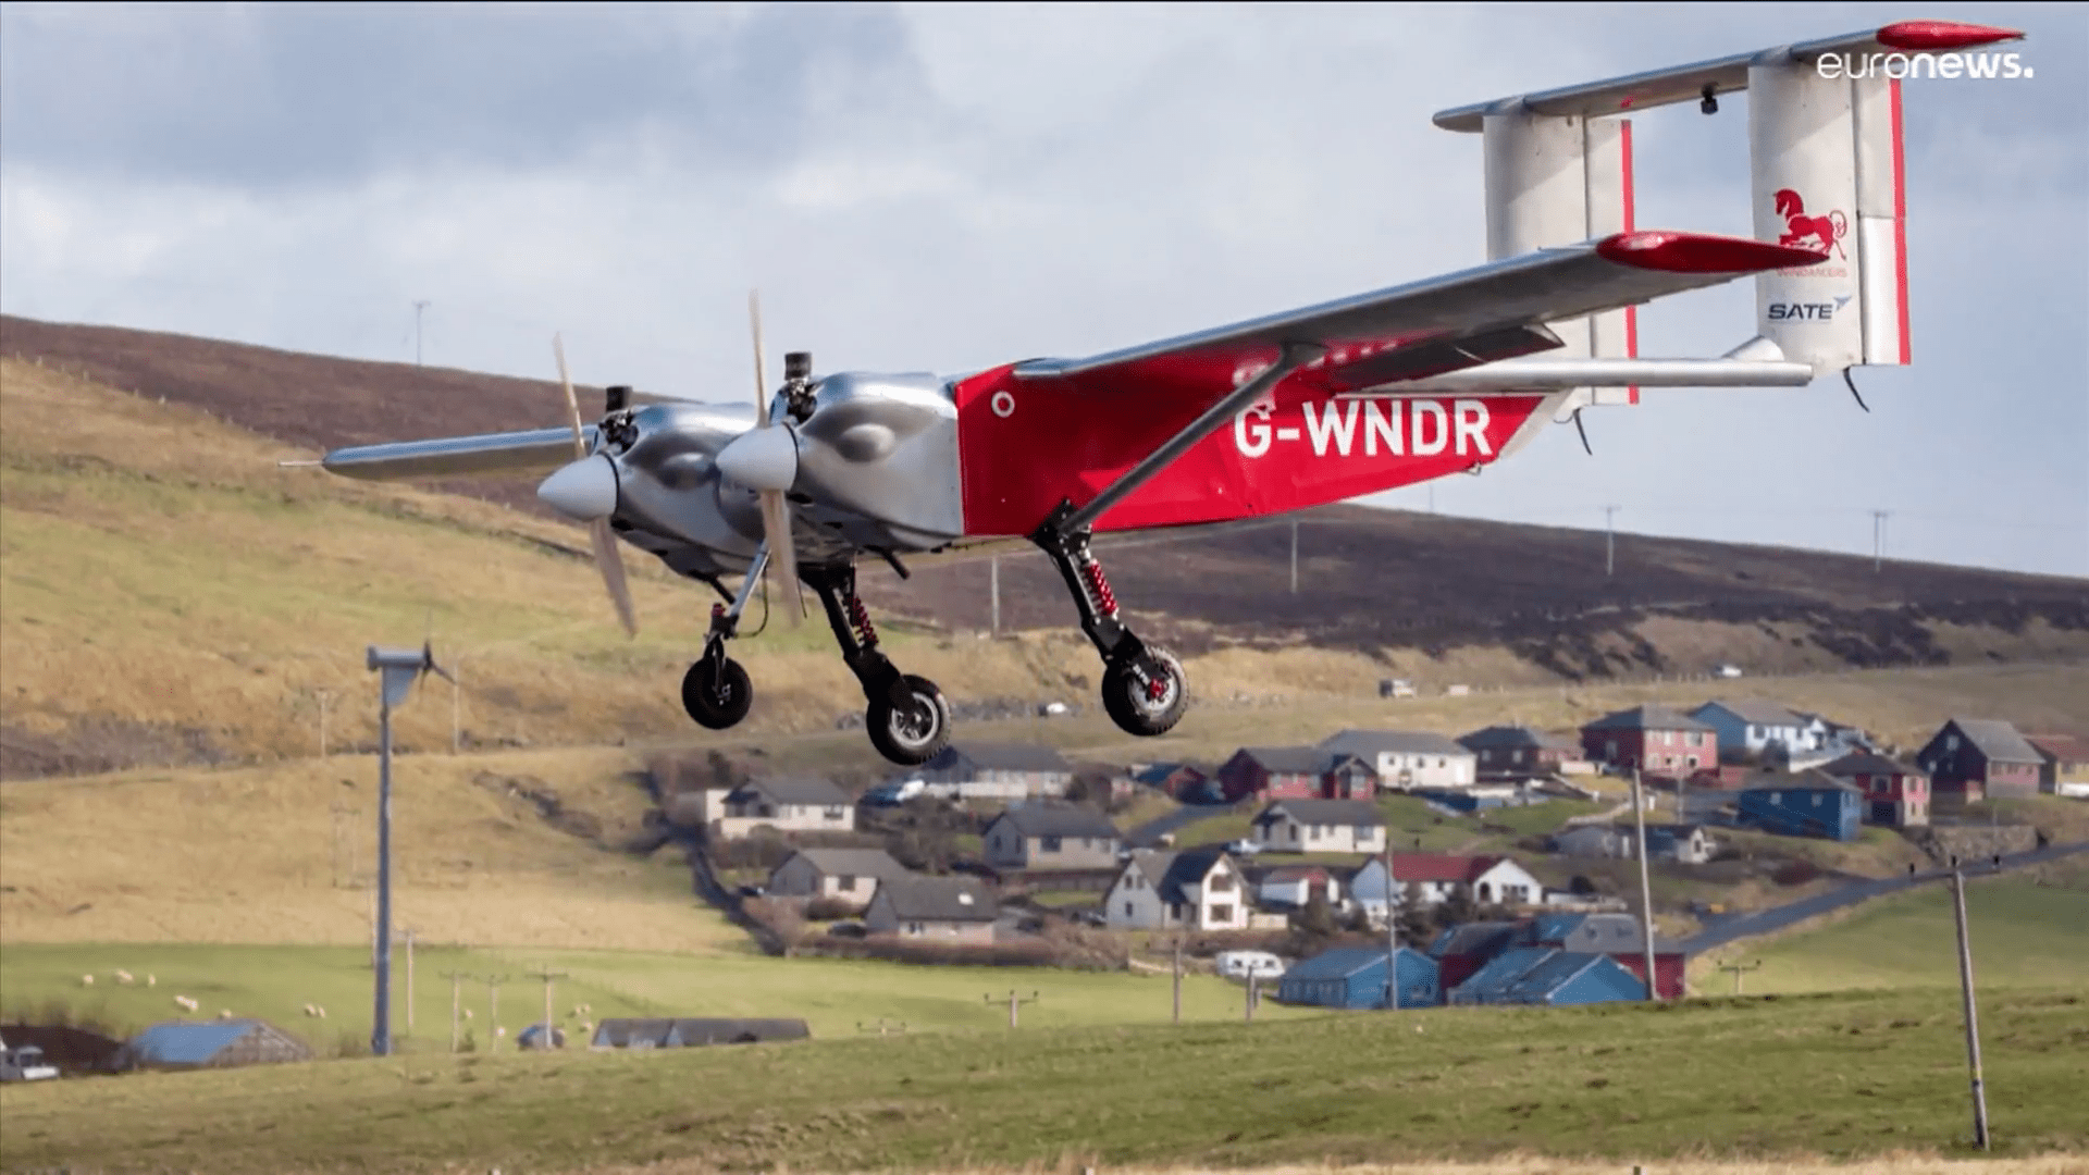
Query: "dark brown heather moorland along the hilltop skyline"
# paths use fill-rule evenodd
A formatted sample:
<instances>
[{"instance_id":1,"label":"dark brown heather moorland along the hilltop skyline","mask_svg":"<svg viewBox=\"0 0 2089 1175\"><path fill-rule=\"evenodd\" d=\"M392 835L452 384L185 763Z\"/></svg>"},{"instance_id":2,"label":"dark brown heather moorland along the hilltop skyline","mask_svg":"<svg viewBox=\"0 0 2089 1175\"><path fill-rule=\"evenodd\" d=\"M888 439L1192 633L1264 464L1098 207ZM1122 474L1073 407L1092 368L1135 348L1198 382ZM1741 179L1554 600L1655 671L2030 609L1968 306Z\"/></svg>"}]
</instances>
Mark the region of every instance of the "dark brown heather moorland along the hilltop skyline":
<instances>
[{"instance_id":1,"label":"dark brown heather moorland along the hilltop skyline","mask_svg":"<svg viewBox=\"0 0 2089 1175\"><path fill-rule=\"evenodd\" d=\"M0 318L0 351L144 397L203 408L290 445L560 424L549 381L376 364L111 326ZM583 410L600 391L583 391ZM543 516L529 483L437 485ZM1759 669L2076 659L2089 581L1857 556L1619 535L1615 575L1592 531L1333 506L1301 514L1299 590L1289 519L1099 542L1118 596L1187 652L1464 646L1527 673L1604 677ZM923 558L900 583L865 569L882 610L950 631L992 623L988 552ZM1001 627L1074 621L1051 567L1001 546Z\"/></svg>"}]
</instances>

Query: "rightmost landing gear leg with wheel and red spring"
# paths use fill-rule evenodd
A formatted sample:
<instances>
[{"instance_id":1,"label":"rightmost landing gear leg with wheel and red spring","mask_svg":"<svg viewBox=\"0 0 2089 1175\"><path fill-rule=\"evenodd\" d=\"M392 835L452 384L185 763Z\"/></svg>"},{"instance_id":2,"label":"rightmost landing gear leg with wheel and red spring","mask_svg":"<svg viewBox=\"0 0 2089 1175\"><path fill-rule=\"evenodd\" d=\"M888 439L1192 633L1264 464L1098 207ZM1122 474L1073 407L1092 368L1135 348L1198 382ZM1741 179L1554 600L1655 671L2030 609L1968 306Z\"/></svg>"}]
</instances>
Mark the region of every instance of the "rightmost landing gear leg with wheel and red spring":
<instances>
[{"instance_id":1,"label":"rightmost landing gear leg with wheel and red spring","mask_svg":"<svg viewBox=\"0 0 2089 1175\"><path fill-rule=\"evenodd\" d=\"M1151 738L1168 734L1189 711L1182 663L1161 646L1139 640L1118 621L1118 596L1103 577L1103 565L1088 550L1088 531L1067 525L1074 504L1061 502L1030 542L1051 556L1059 577L1080 608L1080 631L1103 654L1103 711L1126 734Z\"/></svg>"}]
</instances>

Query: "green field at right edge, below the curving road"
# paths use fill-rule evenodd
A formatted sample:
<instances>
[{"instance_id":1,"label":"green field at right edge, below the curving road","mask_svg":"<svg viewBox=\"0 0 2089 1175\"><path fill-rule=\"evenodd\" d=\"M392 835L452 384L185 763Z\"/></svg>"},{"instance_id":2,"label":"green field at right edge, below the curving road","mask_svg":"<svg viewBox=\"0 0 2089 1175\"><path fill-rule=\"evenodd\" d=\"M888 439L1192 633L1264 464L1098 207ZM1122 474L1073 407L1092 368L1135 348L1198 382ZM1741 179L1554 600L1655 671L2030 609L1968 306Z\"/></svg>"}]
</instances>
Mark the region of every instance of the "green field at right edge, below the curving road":
<instances>
[{"instance_id":1,"label":"green field at right edge, below the curving road","mask_svg":"<svg viewBox=\"0 0 2089 1175\"><path fill-rule=\"evenodd\" d=\"M1761 970L1744 991L1957 987L1957 928L1943 884L1884 897L1765 943L1692 960L1700 991L1730 991L1719 964ZM1966 926L1980 987L2070 987L2089 993L2089 886L2003 876L1966 886Z\"/></svg>"}]
</instances>

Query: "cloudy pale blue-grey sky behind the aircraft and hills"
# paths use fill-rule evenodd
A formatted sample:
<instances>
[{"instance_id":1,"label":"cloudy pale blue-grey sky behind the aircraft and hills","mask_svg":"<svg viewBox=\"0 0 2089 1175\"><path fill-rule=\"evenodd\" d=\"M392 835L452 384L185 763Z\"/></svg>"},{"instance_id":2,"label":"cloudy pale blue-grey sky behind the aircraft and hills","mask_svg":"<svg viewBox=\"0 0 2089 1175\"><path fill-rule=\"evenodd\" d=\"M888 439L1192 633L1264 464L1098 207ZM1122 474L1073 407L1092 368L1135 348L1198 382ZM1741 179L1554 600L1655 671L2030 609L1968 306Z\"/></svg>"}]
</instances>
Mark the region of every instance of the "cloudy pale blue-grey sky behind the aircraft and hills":
<instances>
[{"instance_id":1,"label":"cloudy pale blue-grey sky behind the aircraft and hills","mask_svg":"<svg viewBox=\"0 0 2089 1175\"><path fill-rule=\"evenodd\" d=\"M1473 100L1949 17L1905 86L1911 368L1648 391L1379 502L2089 575L2089 8L0 4L0 309L708 399L771 347L963 374L1485 259ZM1746 102L1636 123L1642 228L1748 234ZM1753 335L1746 282L1642 353ZM775 364L775 358L771 358ZM556 408L547 410L556 418ZM401 435L418 435L401 406ZM539 424L539 422L518 422Z\"/></svg>"}]
</instances>

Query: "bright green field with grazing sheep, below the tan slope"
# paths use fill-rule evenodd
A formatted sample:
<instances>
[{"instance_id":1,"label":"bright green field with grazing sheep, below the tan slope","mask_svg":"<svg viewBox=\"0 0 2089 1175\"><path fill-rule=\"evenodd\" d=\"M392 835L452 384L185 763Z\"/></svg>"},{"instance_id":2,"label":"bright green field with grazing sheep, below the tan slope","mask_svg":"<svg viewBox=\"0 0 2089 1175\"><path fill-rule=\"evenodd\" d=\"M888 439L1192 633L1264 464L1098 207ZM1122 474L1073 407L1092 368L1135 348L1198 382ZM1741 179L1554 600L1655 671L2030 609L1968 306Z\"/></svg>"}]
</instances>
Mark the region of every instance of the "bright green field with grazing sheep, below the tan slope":
<instances>
[{"instance_id":1,"label":"bright green field with grazing sheep, below the tan slope","mask_svg":"<svg viewBox=\"0 0 2089 1175\"><path fill-rule=\"evenodd\" d=\"M136 983L119 985L115 972ZM506 974L499 1014L483 981L462 989L478 1047L489 1024L508 1039L543 1020L543 985L531 972L566 972L554 989L554 1016L568 1031L604 1016L794 1016L817 1037L852 1037L856 1024L905 1024L911 1033L988 1029L1007 1022L1007 997L1019 989L1022 1020L1038 1027L1141 1024L1168 1020L1168 976L1078 972L1053 968L907 966L861 960L779 960L752 949L710 953L572 951L572 949L418 949L414 964L414 1050L449 1047L447 972ZM94 974L84 987L81 976ZM146 976L157 983L144 987ZM393 1031L405 1033L405 947L393 951ZM182 1012L175 995L201 1004ZM0 1014L38 1016L63 1004L75 1018L96 1018L134 1031L159 1020L213 1018L219 1012L259 1016L303 1037L322 1056L343 1043L368 1041L372 970L368 947L240 947L240 945L8 945L0 958ZM305 1004L326 1008L326 1020L305 1016ZM574 1006L591 1006L574 1014ZM1243 1014L1243 989L1212 976L1187 976L1182 1016L1228 1020ZM1260 1016L1297 1016L1264 1004Z\"/></svg>"}]
</instances>

